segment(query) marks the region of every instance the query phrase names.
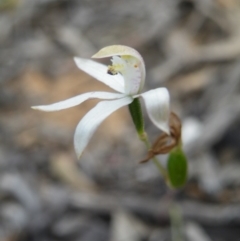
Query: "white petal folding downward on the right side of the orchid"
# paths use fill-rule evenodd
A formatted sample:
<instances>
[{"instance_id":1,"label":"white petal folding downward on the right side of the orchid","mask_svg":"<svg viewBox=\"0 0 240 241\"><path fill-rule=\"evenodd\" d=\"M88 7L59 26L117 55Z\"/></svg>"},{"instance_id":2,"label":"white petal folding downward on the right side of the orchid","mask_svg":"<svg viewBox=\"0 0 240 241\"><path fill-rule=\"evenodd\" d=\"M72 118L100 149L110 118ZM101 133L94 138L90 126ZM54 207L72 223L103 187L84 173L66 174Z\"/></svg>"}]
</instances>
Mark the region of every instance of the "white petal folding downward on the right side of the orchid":
<instances>
[{"instance_id":1,"label":"white petal folding downward on the right side of the orchid","mask_svg":"<svg viewBox=\"0 0 240 241\"><path fill-rule=\"evenodd\" d=\"M162 131L169 134L169 93L166 88L157 88L147 91L140 96L143 97L147 113L151 121Z\"/></svg>"}]
</instances>

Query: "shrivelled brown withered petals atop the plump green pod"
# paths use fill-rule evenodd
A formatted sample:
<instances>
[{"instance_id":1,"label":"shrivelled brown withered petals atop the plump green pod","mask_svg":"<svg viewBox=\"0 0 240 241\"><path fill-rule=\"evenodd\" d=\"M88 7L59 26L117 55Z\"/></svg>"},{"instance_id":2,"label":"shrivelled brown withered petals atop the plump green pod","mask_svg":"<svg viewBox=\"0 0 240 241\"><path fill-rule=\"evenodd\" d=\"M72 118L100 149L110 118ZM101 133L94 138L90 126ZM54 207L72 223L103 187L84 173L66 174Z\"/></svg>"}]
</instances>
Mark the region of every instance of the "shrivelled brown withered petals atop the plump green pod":
<instances>
[{"instance_id":1,"label":"shrivelled brown withered petals atop the plump green pod","mask_svg":"<svg viewBox=\"0 0 240 241\"><path fill-rule=\"evenodd\" d=\"M162 133L153 143L151 149L149 149L147 157L140 163L147 162L156 155L169 153L174 147L179 145L181 142L182 125L179 117L174 112L170 114L169 125L170 135Z\"/></svg>"}]
</instances>

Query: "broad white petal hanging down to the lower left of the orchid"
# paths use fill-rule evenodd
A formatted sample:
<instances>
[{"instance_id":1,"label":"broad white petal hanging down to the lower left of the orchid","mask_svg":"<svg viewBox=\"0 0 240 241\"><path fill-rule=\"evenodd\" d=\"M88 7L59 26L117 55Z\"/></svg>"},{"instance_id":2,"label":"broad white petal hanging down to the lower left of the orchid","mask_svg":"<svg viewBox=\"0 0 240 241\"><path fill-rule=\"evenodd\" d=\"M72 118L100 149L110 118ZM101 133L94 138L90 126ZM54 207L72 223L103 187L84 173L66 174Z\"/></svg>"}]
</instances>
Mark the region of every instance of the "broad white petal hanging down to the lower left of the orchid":
<instances>
[{"instance_id":1,"label":"broad white petal hanging down to the lower left of the orchid","mask_svg":"<svg viewBox=\"0 0 240 241\"><path fill-rule=\"evenodd\" d=\"M112 101L101 101L82 118L74 135L74 147L79 158L91 139L94 131L102 123L102 121L114 111L122 106L128 105L132 101L133 99L131 97L125 97Z\"/></svg>"}]
</instances>

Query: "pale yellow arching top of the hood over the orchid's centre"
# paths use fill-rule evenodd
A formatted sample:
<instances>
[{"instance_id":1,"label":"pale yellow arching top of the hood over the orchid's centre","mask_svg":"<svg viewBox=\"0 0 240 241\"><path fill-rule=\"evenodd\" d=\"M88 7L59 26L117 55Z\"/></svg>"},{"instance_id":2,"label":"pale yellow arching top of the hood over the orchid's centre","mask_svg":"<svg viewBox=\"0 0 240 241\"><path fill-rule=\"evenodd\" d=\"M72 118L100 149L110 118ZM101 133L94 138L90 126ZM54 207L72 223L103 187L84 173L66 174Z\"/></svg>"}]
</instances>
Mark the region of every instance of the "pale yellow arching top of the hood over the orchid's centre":
<instances>
[{"instance_id":1,"label":"pale yellow arching top of the hood over the orchid's centre","mask_svg":"<svg viewBox=\"0 0 240 241\"><path fill-rule=\"evenodd\" d=\"M137 52L137 50L124 46L124 45L111 45L100 49L96 54L92 56L92 58L100 59L100 58L107 58L116 55L129 55L137 58L141 62L143 62L142 56Z\"/></svg>"}]
</instances>

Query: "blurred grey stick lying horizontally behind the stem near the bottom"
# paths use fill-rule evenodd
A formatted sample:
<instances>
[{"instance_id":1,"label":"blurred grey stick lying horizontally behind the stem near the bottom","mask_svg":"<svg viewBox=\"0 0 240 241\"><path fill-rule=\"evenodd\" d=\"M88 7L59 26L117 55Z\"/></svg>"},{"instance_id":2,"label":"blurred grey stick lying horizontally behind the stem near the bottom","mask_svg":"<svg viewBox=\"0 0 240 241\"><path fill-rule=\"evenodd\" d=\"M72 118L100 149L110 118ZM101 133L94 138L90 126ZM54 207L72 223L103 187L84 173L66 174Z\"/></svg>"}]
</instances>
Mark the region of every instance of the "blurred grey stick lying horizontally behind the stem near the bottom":
<instances>
[{"instance_id":1,"label":"blurred grey stick lying horizontally behind the stem near the bottom","mask_svg":"<svg viewBox=\"0 0 240 241\"><path fill-rule=\"evenodd\" d=\"M74 193L70 196L74 208L111 214L118 208L144 215L157 222L169 222L170 203L166 200L146 199L124 194ZM191 219L205 225L240 224L240 205L214 205L195 201L178 203L185 219Z\"/></svg>"}]
</instances>

